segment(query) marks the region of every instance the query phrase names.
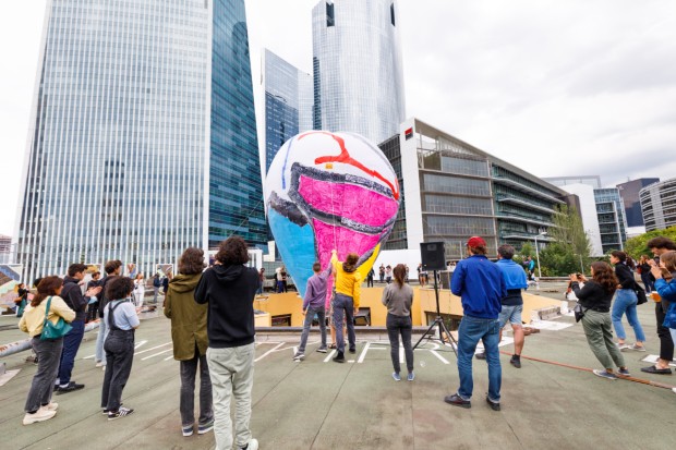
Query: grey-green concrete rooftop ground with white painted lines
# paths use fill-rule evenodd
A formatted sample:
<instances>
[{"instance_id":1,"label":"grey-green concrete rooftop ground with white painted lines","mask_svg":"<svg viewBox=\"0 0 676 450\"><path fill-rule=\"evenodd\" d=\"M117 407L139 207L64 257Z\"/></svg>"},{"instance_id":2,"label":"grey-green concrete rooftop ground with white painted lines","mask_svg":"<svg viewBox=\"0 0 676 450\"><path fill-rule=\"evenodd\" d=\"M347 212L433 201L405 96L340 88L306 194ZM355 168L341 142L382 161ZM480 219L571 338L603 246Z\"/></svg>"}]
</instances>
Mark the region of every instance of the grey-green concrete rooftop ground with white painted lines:
<instances>
[{"instance_id":1,"label":"grey-green concrete rooftop ground with white painted lines","mask_svg":"<svg viewBox=\"0 0 676 450\"><path fill-rule=\"evenodd\" d=\"M558 295L557 295L558 296ZM656 354L653 304L639 307L648 336L648 352L625 352L630 380L609 381L588 372L600 368L582 327L562 317L555 327L527 337L522 368L503 355L502 411L485 404L487 370L474 360L472 408L446 404L444 396L458 387L456 357L447 349L425 343L415 351L415 380L394 381L385 336L359 335L352 362L336 364L330 354L316 353L317 336L306 360L291 356L298 335L259 335L251 428L262 449L648 449L673 442L676 376L641 373L641 358ZM15 318L0 318L0 343L25 338L11 327ZM628 325L626 325L628 328ZM59 413L45 423L23 426L23 405L36 366L29 352L4 357L8 370L20 369L0 387L0 448L2 449L212 449L214 437L181 436L179 364L173 361L169 320L148 317L136 333L136 356L124 404L133 415L108 422L99 408L104 373L94 367L96 331L86 333L73 379L86 388L55 396ZM632 337L628 328L629 337ZM509 335L506 335L509 338ZM511 344L502 348L511 352ZM579 368L531 361L528 357ZM581 369L580 369L581 368Z\"/></svg>"}]
</instances>

